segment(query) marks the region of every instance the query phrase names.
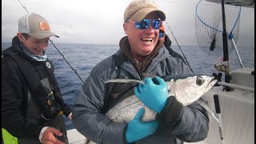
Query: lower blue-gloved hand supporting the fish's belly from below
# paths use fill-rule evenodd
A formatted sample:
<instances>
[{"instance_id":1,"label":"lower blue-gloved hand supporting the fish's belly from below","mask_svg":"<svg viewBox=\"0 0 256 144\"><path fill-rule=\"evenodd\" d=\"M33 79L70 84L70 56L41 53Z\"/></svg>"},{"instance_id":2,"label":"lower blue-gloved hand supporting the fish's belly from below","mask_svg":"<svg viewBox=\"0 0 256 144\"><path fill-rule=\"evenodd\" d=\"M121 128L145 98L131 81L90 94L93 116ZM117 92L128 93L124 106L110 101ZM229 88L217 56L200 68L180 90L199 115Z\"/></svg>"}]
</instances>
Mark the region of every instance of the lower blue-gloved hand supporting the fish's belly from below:
<instances>
[{"instance_id":1,"label":"lower blue-gloved hand supporting the fish's belly from below","mask_svg":"<svg viewBox=\"0 0 256 144\"><path fill-rule=\"evenodd\" d=\"M142 138L146 138L150 134L154 134L154 132L158 129L158 121L152 122L141 122L140 118L145 113L144 108L138 110L138 113L134 117L132 121L128 123L126 130L126 141L128 143L138 141Z\"/></svg>"}]
</instances>

